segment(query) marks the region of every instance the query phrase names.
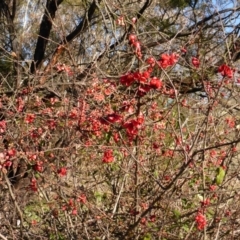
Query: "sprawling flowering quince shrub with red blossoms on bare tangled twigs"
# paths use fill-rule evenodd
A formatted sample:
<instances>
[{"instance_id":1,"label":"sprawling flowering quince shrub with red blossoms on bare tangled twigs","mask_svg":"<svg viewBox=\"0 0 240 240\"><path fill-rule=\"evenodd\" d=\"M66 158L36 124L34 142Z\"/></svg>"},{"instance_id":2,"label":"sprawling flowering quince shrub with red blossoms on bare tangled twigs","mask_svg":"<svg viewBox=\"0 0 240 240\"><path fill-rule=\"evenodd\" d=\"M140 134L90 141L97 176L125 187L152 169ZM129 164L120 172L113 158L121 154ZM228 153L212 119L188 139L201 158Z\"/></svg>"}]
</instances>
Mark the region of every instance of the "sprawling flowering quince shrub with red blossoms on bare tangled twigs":
<instances>
[{"instance_id":1,"label":"sprawling flowering quince shrub with red blossoms on bare tangled twigs","mask_svg":"<svg viewBox=\"0 0 240 240\"><path fill-rule=\"evenodd\" d=\"M8 192L9 221L18 220L23 235L238 234L240 118L231 100L239 97L239 70L229 61L210 71L194 44L150 51L138 17L115 19L119 32L134 31L113 70L99 63L82 83L78 69L59 63L41 87L1 95L1 201Z\"/></svg>"}]
</instances>

